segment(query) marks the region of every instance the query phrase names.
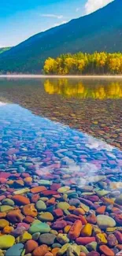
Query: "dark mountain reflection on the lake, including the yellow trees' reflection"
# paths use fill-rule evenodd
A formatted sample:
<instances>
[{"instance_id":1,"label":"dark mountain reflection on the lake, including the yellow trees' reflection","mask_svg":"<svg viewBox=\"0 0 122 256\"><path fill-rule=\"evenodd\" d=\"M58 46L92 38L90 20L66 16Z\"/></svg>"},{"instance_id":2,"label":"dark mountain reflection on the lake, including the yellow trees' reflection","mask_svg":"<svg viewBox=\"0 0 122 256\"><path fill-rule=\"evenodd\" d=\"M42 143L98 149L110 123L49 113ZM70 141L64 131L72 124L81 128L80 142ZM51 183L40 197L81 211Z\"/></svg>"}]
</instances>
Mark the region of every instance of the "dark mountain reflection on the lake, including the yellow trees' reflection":
<instances>
[{"instance_id":1,"label":"dark mountain reflection on the lake, including the yellow trees' reflection","mask_svg":"<svg viewBox=\"0 0 122 256\"><path fill-rule=\"evenodd\" d=\"M53 84L51 90L47 81L0 79L0 101L17 103L30 109L35 115L68 124L71 128L104 139L105 142L122 149L122 80L53 79L49 80ZM76 96L78 84L83 84L79 90L83 98ZM55 93L54 90L58 91L59 88L61 94ZM87 91L86 95L82 90ZM103 98L102 91L104 97L108 95L108 98Z\"/></svg>"}]
</instances>

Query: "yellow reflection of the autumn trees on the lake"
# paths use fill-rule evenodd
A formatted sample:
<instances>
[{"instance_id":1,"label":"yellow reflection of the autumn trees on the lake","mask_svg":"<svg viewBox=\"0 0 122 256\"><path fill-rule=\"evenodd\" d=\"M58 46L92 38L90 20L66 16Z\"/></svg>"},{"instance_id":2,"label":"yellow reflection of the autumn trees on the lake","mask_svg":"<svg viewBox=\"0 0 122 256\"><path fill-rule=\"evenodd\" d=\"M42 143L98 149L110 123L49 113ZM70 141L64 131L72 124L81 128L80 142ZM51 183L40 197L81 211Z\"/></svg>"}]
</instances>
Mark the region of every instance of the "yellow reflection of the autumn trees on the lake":
<instances>
[{"instance_id":1,"label":"yellow reflection of the autumn trees on the lake","mask_svg":"<svg viewBox=\"0 0 122 256\"><path fill-rule=\"evenodd\" d=\"M101 83L92 84L75 82L66 78L59 80L45 80L45 91L50 95L63 95L65 97L76 98L122 98L122 82L110 82L102 85Z\"/></svg>"}]
</instances>

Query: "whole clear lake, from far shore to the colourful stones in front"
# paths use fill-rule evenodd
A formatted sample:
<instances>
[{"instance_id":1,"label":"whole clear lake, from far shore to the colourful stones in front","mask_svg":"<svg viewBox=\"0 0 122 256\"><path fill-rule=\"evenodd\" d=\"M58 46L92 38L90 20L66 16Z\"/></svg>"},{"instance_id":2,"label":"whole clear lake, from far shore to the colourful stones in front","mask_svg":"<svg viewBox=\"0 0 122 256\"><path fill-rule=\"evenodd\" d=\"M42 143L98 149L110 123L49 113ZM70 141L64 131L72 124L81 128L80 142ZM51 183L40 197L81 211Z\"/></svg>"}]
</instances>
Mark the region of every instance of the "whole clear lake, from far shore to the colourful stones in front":
<instances>
[{"instance_id":1,"label":"whole clear lake, from far shore to the colourful stones in front","mask_svg":"<svg viewBox=\"0 0 122 256\"><path fill-rule=\"evenodd\" d=\"M122 80L0 78L0 124L0 218L9 220L13 243L23 227L30 239L44 230L39 245L58 243L60 255L72 241L96 241L104 253L98 226L115 255L122 242ZM87 222L88 231L80 227Z\"/></svg>"}]
</instances>

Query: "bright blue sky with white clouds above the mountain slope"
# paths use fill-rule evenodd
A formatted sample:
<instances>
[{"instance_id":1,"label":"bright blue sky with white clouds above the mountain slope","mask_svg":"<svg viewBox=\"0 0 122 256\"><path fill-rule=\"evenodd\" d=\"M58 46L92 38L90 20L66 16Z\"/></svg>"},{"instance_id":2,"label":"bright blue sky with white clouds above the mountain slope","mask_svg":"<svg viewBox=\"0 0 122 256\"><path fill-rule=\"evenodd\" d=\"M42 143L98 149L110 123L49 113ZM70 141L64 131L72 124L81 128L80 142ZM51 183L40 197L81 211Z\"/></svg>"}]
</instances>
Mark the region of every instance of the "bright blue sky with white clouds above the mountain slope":
<instances>
[{"instance_id":1,"label":"bright blue sky with white clouds above the mountain slope","mask_svg":"<svg viewBox=\"0 0 122 256\"><path fill-rule=\"evenodd\" d=\"M94 12L113 0L1 0L0 47Z\"/></svg>"}]
</instances>

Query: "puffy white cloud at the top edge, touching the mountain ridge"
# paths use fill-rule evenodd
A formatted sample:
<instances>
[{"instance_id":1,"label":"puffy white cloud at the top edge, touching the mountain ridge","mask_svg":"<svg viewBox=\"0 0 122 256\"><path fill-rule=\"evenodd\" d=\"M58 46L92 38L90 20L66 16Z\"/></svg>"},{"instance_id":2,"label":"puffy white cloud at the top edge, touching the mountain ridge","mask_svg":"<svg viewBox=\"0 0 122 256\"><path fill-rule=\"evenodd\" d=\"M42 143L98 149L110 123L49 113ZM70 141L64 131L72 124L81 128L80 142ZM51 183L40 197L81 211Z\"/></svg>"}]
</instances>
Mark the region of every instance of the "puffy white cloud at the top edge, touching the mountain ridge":
<instances>
[{"instance_id":1,"label":"puffy white cloud at the top edge, touching the mountain ridge","mask_svg":"<svg viewBox=\"0 0 122 256\"><path fill-rule=\"evenodd\" d=\"M113 0L87 0L84 14L93 13L97 9L100 9L103 6L109 4L109 2L113 2Z\"/></svg>"}]
</instances>

